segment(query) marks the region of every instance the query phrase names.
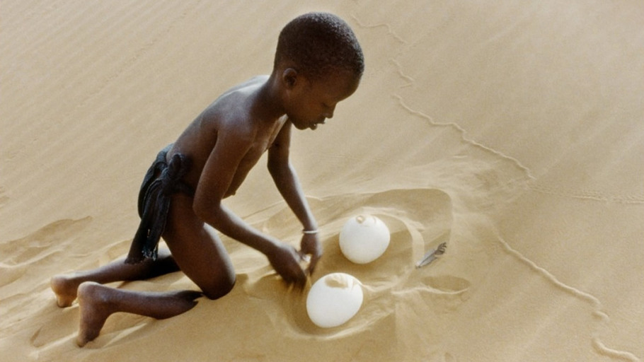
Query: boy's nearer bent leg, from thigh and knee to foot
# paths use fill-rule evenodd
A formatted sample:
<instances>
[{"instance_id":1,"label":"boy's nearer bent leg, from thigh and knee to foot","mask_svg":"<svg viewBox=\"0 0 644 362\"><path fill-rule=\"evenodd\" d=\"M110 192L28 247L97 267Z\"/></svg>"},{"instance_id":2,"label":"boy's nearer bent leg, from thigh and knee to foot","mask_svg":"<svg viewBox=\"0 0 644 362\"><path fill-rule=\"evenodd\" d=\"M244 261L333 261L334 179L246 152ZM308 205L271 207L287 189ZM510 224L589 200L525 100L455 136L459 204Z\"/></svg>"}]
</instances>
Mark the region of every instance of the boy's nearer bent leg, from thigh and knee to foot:
<instances>
[{"instance_id":1,"label":"boy's nearer bent leg, from thigh and knee to foot","mask_svg":"<svg viewBox=\"0 0 644 362\"><path fill-rule=\"evenodd\" d=\"M163 233L173 261L205 296L219 298L233 288L235 272L222 241L192 212L192 198L173 195L166 231ZM159 259L157 259L159 261ZM202 293L124 291L96 283L79 286L80 346L96 338L105 320L116 312L167 318L190 310Z\"/></svg>"}]
</instances>

